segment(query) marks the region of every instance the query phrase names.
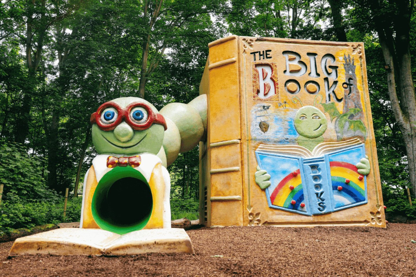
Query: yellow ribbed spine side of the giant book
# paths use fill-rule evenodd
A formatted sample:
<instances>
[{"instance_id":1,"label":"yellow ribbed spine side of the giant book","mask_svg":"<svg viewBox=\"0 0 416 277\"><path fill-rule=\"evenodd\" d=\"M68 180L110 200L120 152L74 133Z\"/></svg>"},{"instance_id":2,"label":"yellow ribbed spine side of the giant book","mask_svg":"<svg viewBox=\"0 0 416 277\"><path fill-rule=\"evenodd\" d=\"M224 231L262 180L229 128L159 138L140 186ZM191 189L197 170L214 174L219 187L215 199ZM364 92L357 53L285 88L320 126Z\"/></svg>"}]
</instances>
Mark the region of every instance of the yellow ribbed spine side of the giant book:
<instances>
[{"instance_id":1,"label":"yellow ribbed spine side of the giant book","mask_svg":"<svg viewBox=\"0 0 416 277\"><path fill-rule=\"evenodd\" d=\"M200 147L200 222L207 226L243 225L238 36L208 44L208 133ZM204 75L206 71L204 72ZM206 150L205 150L206 148Z\"/></svg>"}]
</instances>

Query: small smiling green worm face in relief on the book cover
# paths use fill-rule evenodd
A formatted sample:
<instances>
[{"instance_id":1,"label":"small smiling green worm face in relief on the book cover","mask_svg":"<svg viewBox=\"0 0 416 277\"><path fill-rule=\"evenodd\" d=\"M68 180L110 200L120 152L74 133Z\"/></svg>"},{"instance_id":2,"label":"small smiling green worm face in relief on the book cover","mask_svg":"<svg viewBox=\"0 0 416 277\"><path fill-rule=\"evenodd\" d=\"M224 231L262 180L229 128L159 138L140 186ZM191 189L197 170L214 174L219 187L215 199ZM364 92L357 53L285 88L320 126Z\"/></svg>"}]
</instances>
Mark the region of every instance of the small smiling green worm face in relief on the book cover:
<instances>
[{"instance_id":1,"label":"small smiling green worm face in relief on the book cover","mask_svg":"<svg viewBox=\"0 0 416 277\"><path fill-rule=\"evenodd\" d=\"M300 108L295 115L295 128L299 135L317 138L327 130L327 118L313 106Z\"/></svg>"}]
</instances>

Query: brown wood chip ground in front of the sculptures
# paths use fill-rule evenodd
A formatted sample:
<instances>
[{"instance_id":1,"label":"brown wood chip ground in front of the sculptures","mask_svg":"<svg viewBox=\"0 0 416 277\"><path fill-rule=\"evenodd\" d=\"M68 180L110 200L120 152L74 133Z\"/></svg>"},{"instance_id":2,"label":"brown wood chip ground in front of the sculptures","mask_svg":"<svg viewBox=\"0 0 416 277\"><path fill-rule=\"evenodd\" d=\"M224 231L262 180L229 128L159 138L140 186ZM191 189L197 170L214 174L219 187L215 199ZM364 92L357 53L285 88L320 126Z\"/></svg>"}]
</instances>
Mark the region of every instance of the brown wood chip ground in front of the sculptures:
<instances>
[{"instance_id":1,"label":"brown wood chip ground in front of the sculptures","mask_svg":"<svg viewBox=\"0 0 416 277\"><path fill-rule=\"evenodd\" d=\"M416 224L371 227L188 230L196 255L27 255L8 259L0 276L416 276Z\"/></svg>"}]
</instances>

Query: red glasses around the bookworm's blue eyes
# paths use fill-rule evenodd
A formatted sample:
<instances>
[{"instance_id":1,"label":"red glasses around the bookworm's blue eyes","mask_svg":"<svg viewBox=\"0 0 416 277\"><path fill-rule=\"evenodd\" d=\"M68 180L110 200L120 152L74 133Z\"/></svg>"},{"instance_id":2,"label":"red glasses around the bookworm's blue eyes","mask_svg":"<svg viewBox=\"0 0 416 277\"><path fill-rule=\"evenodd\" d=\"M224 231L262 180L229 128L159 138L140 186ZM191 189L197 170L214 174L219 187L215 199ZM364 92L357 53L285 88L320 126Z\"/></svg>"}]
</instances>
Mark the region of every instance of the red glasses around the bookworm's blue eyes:
<instances>
[{"instance_id":1,"label":"red glasses around the bookworm's blue eyes","mask_svg":"<svg viewBox=\"0 0 416 277\"><path fill-rule=\"evenodd\" d=\"M123 119L138 131L146 130L153 123L162 125L165 131L168 128L163 115L154 113L149 105L141 102L133 102L124 109L112 101L106 102L91 115L90 122L97 123L101 130L110 131L114 130Z\"/></svg>"}]
</instances>

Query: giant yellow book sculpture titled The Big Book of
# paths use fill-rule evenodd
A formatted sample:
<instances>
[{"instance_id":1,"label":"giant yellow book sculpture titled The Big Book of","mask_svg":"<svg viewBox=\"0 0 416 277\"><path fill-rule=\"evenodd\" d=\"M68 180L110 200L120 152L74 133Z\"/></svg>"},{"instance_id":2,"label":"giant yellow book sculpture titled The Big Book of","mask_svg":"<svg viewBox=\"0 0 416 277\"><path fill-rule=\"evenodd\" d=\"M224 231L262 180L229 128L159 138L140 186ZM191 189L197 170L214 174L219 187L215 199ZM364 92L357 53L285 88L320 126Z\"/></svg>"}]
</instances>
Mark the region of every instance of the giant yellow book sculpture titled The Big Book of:
<instances>
[{"instance_id":1,"label":"giant yellow book sculpture titled The Big Book of","mask_svg":"<svg viewBox=\"0 0 416 277\"><path fill-rule=\"evenodd\" d=\"M200 85L200 221L385 227L362 42L229 36Z\"/></svg>"}]
</instances>

